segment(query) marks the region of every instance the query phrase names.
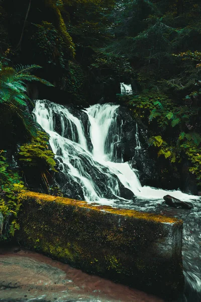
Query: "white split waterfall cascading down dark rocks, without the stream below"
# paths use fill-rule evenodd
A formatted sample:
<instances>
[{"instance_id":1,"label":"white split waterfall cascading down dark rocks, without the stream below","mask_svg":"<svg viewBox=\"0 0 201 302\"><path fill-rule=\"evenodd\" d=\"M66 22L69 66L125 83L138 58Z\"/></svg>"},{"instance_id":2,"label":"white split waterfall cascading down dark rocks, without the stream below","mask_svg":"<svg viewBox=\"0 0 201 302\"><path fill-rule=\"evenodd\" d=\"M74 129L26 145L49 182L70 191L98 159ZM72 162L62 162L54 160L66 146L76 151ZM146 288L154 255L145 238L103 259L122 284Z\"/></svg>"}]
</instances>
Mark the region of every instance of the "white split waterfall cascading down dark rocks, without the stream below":
<instances>
[{"instance_id":1,"label":"white split waterfall cascading down dark rocks, without the stream below","mask_svg":"<svg viewBox=\"0 0 201 302\"><path fill-rule=\"evenodd\" d=\"M116 145L122 140L122 124L117 122L118 108L113 104L96 104L83 110L88 116L91 152L83 123L70 113L70 108L38 100L34 114L37 122L50 135L50 145L59 170L80 188L82 194L78 195L86 201L111 205L121 201L123 204L126 199L132 199L121 194L122 188L126 188L137 198L162 202L167 191L142 187L137 171L129 163L116 162ZM138 126L136 142L136 151L139 151ZM172 191L171 195L181 200L195 198L180 191Z\"/></svg>"}]
</instances>

